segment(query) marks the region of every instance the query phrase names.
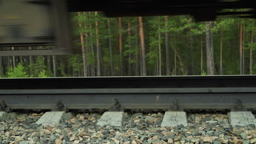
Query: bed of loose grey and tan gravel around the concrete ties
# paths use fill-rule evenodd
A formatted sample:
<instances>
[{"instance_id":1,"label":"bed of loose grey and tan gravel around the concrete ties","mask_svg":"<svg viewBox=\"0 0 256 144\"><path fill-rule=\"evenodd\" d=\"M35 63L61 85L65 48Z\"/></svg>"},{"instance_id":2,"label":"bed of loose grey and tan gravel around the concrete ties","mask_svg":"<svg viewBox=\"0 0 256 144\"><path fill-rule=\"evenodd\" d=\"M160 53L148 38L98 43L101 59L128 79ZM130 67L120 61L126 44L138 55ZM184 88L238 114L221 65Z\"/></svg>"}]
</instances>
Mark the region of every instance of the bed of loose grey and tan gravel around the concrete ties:
<instances>
[{"instance_id":1,"label":"bed of loose grey and tan gravel around the concrete ties","mask_svg":"<svg viewBox=\"0 0 256 144\"><path fill-rule=\"evenodd\" d=\"M35 122L43 113L0 122L0 143L256 143L254 125L232 128L221 113L187 113L188 127L161 128L164 111L125 113L123 127L96 125L102 113L79 113L54 127Z\"/></svg>"}]
</instances>

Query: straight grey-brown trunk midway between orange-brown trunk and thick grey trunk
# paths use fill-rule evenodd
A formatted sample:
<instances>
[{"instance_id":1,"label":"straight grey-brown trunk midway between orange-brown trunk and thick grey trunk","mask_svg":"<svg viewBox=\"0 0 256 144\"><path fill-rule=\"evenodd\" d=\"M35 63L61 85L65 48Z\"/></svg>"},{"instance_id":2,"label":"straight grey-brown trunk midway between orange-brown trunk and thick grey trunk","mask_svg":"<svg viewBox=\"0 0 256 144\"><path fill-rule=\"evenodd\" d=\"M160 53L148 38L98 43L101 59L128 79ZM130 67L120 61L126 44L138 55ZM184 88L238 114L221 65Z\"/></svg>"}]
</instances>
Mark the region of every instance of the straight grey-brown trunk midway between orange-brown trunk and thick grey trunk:
<instances>
[{"instance_id":1,"label":"straight grey-brown trunk midway between orange-brown trunk and thick grey trunk","mask_svg":"<svg viewBox=\"0 0 256 144\"><path fill-rule=\"evenodd\" d=\"M170 68L170 52L169 52L169 37L168 37L168 16L165 17L165 53L166 53L166 75L171 75Z\"/></svg>"}]
</instances>

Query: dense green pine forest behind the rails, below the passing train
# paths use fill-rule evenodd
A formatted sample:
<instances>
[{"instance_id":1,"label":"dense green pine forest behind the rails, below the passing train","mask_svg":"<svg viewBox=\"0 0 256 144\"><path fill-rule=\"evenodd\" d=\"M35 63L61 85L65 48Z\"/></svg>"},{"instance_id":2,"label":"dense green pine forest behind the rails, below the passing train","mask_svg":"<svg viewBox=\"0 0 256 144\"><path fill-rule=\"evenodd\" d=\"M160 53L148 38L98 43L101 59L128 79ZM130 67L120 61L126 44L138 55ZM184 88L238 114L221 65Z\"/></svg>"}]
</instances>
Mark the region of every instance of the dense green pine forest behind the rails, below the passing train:
<instances>
[{"instance_id":1,"label":"dense green pine forest behind the rails, below the passing train","mask_svg":"<svg viewBox=\"0 0 256 144\"><path fill-rule=\"evenodd\" d=\"M108 18L98 11L86 11L71 13L71 20L74 45L81 54L0 57L0 76L256 74L254 19L222 16L216 21L195 22L189 15Z\"/></svg>"}]
</instances>

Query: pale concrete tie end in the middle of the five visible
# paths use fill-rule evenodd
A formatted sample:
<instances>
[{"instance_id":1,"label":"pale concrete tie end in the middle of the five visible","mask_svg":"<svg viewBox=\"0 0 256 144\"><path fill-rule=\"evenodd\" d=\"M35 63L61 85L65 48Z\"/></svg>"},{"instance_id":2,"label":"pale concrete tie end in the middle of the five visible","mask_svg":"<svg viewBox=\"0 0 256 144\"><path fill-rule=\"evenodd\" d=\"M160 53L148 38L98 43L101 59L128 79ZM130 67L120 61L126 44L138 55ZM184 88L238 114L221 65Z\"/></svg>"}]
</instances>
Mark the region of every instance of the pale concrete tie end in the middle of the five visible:
<instances>
[{"instance_id":1,"label":"pale concrete tie end in the middle of the five visible","mask_svg":"<svg viewBox=\"0 0 256 144\"><path fill-rule=\"evenodd\" d=\"M101 127L104 125L121 127L124 119L124 112L104 112L101 118L98 120L97 125Z\"/></svg>"}]
</instances>

